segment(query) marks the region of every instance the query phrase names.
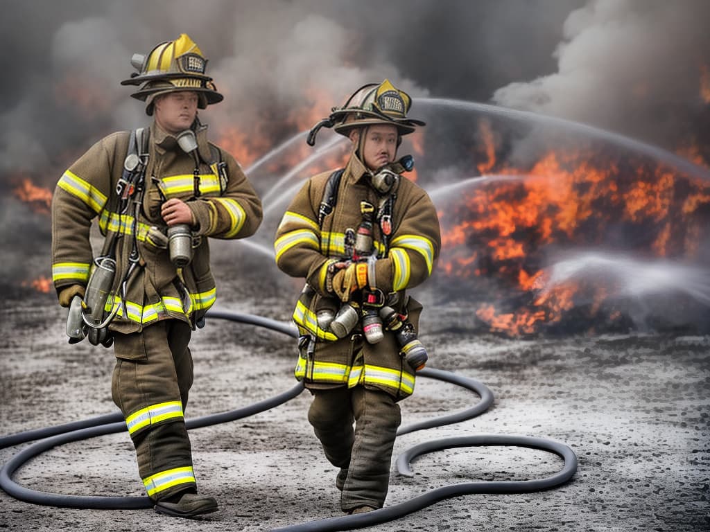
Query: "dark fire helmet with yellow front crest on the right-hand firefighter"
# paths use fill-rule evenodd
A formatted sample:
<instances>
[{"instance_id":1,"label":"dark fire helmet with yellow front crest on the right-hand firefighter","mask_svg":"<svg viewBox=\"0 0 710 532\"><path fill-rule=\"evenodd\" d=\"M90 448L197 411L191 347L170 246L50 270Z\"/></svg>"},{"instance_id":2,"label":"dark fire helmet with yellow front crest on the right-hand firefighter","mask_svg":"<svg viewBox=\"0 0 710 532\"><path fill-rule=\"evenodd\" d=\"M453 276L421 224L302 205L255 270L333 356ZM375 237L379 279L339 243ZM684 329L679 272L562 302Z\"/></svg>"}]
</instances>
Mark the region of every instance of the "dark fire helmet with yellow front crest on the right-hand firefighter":
<instances>
[{"instance_id":1,"label":"dark fire helmet with yellow front crest on the right-hand firefighter","mask_svg":"<svg viewBox=\"0 0 710 532\"><path fill-rule=\"evenodd\" d=\"M320 128L334 128L337 133L348 136L353 128L386 124L395 126L400 135L412 133L416 126L425 126L421 120L408 118L412 106L409 94L395 87L389 79L382 83L369 83L357 89L342 107L334 107L311 129L306 142L315 145L315 136Z\"/></svg>"}]
</instances>

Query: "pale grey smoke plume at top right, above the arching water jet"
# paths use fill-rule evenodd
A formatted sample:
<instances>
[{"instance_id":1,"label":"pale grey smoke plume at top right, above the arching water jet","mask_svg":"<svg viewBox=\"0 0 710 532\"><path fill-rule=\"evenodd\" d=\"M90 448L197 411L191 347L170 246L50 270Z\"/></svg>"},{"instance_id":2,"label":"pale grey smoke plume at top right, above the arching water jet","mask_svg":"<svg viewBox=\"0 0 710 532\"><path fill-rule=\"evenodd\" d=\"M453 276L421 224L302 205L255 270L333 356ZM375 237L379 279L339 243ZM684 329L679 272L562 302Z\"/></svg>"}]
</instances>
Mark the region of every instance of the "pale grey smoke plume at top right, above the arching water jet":
<instances>
[{"instance_id":1,"label":"pale grey smoke plume at top right, above the arching water jet","mask_svg":"<svg viewBox=\"0 0 710 532\"><path fill-rule=\"evenodd\" d=\"M708 109L709 20L705 0L590 1L564 21L556 72L501 87L493 101L679 148Z\"/></svg>"}]
</instances>

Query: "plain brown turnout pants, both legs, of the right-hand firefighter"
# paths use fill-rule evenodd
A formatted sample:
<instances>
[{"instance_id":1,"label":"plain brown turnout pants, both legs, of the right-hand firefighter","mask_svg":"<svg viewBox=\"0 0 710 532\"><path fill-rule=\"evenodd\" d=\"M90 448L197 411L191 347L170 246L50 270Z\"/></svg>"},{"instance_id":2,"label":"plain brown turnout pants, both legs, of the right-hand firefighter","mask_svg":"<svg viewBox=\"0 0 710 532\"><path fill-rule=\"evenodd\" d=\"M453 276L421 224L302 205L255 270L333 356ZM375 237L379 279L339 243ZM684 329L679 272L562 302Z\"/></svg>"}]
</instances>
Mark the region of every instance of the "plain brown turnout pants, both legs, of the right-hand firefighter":
<instances>
[{"instance_id":1,"label":"plain brown turnout pants, both legs, of the right-hand firefighter","mask_svg":"<svg viewBox=\"0 0 710 532\"><path fill-rule=\"evenodd\" d=\"M312 392L308 421L329 462L347 471L340 507L343 511L363 505L381 508L401 422L399 405L390 394L363 386Z\"/></svg>"}]
</instances>

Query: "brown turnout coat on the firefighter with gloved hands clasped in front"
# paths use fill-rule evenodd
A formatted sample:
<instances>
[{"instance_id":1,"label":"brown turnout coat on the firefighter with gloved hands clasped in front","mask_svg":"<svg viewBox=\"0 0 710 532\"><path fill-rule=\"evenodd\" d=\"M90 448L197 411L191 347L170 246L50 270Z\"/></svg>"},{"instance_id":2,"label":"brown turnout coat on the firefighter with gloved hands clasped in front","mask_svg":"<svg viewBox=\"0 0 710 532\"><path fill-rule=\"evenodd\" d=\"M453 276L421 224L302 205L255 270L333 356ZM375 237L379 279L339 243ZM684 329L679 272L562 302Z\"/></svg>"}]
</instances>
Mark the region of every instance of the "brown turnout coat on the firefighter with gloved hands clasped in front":
<instances>
[{"instance_id":1,"label":"brown turnout coat on the firefighter with gloved hands clasped in front","mask_svg":"<svg viewBox=\"0 0 710 532\"><path fill-rule=\"evenodd\" d=\"M356 230L361 222L360 202L369 201L377 212L387 197L373 189L369 172L353 155L342 174L337 203L320 226L318 211L331 174L318 174L305 183L288 206L275 235L278 267L288 275L306 279L293 313L303 335L295 375L304 379L309 388L362 384L403 399L413 392L415 375L400 355L393 333L385 331L380 343L369 344L359 327L338 339L317 326L315 309L320 299L334 297L326 288L327 266L344 257L346 229ZM383 224L373 224L378 254L376 287L387 295L388 304L401 314L408 314L416 328L422 306L408 297L406 289L417 286L432 273L441 245L439 220L427 193L409 179L400 177L390 194L395 194L395 199L387 245ZM306 336L314 343L306 342Z\"/></svg>"}]
</instances>

